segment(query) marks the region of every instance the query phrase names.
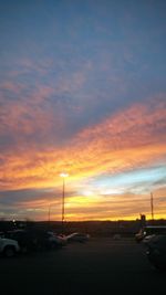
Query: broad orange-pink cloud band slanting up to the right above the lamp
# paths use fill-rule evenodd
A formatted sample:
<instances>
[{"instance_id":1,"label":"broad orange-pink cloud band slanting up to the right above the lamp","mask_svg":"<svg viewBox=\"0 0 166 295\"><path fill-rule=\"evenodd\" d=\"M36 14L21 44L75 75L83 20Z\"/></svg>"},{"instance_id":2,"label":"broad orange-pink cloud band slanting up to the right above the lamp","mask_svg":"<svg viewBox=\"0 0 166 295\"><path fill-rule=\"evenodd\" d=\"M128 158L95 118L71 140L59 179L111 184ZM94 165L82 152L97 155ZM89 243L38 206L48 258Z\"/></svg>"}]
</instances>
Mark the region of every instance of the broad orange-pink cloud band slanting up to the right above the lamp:
<instances>
[{"instance_id":1,"label":"broad orange-pink cloud band slanting up to the right above the lamp","mask_svg":"<svg viewBox=\"0 0 166 295\"><path fill-rule=\"evenodd\" d=\"M22 110L18 108L15 112L18 115ZM42 114L41 120L40 114L37 115L40 125ZM152 113L148 106L136 105L83 130L68 146L40 151L35 144L23 146L23 149L18 147L18 154L10 151L2 156L3 180L14 182L14 188L49 187L54 186L56 176L64 169L75 181L107 171L114 175L152 165L166 156L165 134L159 131L166 128L165 117L164 102L158 103ZM49 123L44 128L49 130Z\"/></svg>"}]
</instances>

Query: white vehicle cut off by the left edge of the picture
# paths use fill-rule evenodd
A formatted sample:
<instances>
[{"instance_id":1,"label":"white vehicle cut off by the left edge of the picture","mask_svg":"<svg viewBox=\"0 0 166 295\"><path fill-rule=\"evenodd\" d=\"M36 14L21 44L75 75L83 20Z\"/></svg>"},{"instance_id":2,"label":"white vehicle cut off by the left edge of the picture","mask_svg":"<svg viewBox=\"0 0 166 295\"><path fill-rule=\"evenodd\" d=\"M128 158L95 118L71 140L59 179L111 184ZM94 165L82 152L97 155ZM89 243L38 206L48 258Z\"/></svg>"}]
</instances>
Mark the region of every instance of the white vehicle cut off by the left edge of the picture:
<instances>
[{"instance_id":1,"label":"white vehicle cut off by the left edge of the picture","mask_svg":"<svg viewBox=\"0 0 166 295\"><path fill-rule=\"evenodd\" d=\"M20 246L17 241L11 239L0 238L0 254L7 257L14 256L20 251Z\"/></svg>"}]
</instances>

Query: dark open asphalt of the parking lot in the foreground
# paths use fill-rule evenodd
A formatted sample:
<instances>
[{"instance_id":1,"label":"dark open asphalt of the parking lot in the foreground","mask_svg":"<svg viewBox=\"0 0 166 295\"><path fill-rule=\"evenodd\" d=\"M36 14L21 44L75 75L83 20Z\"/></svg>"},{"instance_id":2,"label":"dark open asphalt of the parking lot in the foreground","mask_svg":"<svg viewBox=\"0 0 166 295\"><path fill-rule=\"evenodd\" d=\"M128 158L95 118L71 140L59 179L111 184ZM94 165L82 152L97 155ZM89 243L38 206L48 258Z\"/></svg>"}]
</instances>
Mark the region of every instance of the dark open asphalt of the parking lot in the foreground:
<instances>
[{"instance_id":1,"label":"dark open asphalt of the parking lot in the foreground","mask_svg":"<svg viewBox=\"0 0 166 295\"><path fill-rule=\"evenodd\" d=\"M92 238L55 251L0 259L2 294L165 294L166 274L132 239ZM116 293L115 293L116 292Z\"/></svg>"}]
</instances>

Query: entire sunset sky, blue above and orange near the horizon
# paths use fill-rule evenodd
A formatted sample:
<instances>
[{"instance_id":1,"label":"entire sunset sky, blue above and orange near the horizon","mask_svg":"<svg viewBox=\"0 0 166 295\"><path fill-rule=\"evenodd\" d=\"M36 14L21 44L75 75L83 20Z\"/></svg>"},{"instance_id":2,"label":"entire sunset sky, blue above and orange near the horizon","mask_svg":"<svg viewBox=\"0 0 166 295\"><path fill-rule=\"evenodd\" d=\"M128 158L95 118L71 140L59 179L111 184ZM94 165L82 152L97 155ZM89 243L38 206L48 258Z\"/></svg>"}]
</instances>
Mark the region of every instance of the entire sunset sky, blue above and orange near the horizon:
<instances>
[{"instance_id":1,"label":"entire sunset sky, blue above and orange near the horizon","mask_svg":"<svg viewBox=\"0 0 166 295\"><path fill-rule=\"evenodd\" d=\"M0 1L0 219L166 218L166 1Z\"/></svg>"}]
</instances>

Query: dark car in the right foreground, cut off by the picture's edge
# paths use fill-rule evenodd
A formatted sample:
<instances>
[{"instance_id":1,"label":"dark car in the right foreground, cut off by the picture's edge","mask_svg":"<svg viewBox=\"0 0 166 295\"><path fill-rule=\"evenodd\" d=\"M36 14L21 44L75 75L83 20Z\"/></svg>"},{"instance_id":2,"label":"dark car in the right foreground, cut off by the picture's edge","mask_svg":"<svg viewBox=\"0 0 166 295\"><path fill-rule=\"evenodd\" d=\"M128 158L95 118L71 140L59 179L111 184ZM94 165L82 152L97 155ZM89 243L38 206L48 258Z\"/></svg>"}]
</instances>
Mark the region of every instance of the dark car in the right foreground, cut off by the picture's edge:
<instances>
[{"instance_id":1,"label":"dark car in the right foreground, cut off by the picture's edge","mask_svg":"<svg viewBox=\"0 0 166 295\"><path fill-rule=\"evenodd\" d=\"M146 246L151 264L160 271L166 271L166 235L154 236Z\"/></svg>"}]
</instances>

